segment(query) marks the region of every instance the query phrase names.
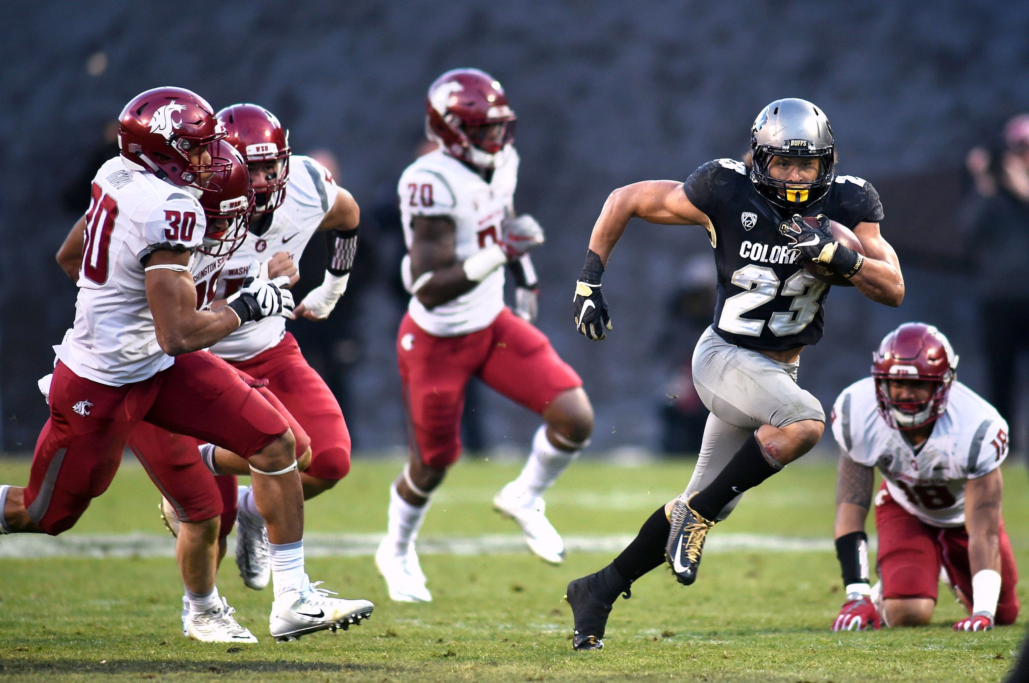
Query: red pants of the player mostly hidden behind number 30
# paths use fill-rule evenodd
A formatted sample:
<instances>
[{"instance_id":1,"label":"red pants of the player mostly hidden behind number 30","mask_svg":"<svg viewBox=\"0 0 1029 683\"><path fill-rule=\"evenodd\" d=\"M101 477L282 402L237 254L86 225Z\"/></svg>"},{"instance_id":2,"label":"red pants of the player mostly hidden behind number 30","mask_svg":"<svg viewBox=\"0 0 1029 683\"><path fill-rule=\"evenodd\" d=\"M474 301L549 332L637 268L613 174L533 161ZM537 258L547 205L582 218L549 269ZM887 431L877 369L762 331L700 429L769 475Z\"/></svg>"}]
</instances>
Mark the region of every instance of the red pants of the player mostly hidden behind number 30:
<instances>
[{"instance_id":1,"label":"red pants of the player mostly hidden behind number 30","mask_svg":"<svg viewBox=\"0 0 1029 683\"><path fill-rule=\"evenodd\" d=\"M297 458L303 456L311 445L311 439L304 429L262 382L240 370L236 372L285 418L296 439L295 455ZM174 434L146 422L136 424L126 443L146 469L161 495L175 508L180 522L203 522L219 514L224 517L228 509L235 515L235 484L221 486L215 480L200 459L198 446L202 443L203 440ZM229 490L230 497L224 495ZM222 529L222 533L227 535L230 530L232 526L228 526L227 530Z\"/></svg>"}]
</instances>

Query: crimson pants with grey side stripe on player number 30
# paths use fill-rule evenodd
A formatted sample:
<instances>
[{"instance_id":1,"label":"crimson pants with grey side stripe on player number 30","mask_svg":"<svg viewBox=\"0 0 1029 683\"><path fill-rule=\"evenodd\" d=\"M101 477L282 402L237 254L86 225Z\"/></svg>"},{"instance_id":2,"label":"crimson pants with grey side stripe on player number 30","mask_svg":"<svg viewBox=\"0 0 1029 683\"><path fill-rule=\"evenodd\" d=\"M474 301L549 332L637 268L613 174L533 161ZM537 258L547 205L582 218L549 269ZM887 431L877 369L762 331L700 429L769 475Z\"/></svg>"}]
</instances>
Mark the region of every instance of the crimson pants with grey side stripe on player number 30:
<instances>
[{"instance_id":1,"label":"crimson pants with grey side stripe on player number 30","mask_svg":"<svg viewBox=\"0 0 1029 683\"><path fill-rule=\"evenodd\" d=\"M80 378L59 362L49 403L50 418L36 441L25 505L33 522L50 535L73 527L90 501L107 490L126 441L141 422L210 441L244 458L289 427L227 363L202 351L177 356L170 368L121 387ZM203 469L200 455L194 458ZM218 509L210 507L211 501L193 503Z\"/></svg>"}]
</instances>

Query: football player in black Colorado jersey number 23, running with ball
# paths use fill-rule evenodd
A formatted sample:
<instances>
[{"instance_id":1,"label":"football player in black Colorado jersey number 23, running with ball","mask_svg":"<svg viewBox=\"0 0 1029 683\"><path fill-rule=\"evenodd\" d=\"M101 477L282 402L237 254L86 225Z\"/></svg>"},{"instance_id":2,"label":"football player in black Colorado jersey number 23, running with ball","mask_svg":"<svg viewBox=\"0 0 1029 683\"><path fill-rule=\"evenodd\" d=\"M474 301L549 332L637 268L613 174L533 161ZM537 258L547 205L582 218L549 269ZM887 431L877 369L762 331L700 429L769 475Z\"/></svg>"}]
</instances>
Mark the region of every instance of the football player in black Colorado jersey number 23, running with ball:
<instances>
[{"instance_id":1,"label":"football player in black Colorado jersey number 23, running with ball","mask_svg":"<svg viewBox=\"0 0 1029 683\"><path fill-rule=\"evenodd\" d=\"M604 627L619 594L668 562L691 584L708 530L740 496L810 451L825 414L796 385L801 351L822 336L828 285L805 271L815 261L846 278L874 301L896 307L903 278L879 231L875 188L835 173L829 121L806 100L777 100L751 129L749 167L716 159L685 183L650 180L607 199L575 283L575 326L603 339L611 319L601 275L630 218L702 225L718 268L714 324L694 352L694 384L711 411L686 491L658 508L639 535L599 572L568 584L575 618L573 646L603 647ZM818 216L810 225L801 216ZM829 220L853 230L863 256L835 241Z\"/></svg>"}]
</instances>

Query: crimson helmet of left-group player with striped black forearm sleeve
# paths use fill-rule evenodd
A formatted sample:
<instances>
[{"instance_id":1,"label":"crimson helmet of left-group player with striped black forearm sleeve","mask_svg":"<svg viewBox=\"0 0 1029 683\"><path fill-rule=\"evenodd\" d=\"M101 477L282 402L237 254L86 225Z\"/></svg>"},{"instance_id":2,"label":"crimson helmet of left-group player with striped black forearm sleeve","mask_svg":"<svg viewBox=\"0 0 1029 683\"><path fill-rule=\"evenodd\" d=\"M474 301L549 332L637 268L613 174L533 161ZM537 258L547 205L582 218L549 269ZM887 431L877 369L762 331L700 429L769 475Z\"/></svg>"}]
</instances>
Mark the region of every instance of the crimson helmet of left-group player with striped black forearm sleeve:
<instances>
[{"instance_id":1,"label":"crimson helmet of left-group player with striped black forearm sleeve","mask_svg":"<svg viewBox=\"0 0 1029 683\"><path fill-rule=\"evenodd\" d=\"M289 131L275 114L255 104L234 104L217 114L218 120L228 132L228 142L236 147L247 164L275 161L275 171L253 184L254 215L272 213L286 201L286 183L289 181Z\"/></svg>"}]
</instances>

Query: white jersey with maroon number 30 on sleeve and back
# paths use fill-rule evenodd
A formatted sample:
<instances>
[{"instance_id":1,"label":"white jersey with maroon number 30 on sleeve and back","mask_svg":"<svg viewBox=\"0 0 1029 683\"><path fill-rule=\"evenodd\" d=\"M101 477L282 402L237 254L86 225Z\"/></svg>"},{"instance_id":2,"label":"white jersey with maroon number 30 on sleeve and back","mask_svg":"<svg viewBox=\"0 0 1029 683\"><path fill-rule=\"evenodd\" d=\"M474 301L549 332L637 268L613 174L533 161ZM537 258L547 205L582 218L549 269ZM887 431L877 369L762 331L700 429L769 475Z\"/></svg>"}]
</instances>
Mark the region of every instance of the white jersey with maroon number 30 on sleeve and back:
<instances>
[{"instance_id":1,"label":"white jersey with maroon number 30 on sleeve and back","mask_svg":"<svg viewBox=\"0 0 1029 683\"><path fill-rule=\"evenodd\" d=\"M54 347L58 358L75 374L115 387L171 367L174 359L157 344L140 259L159 248L192 251L206 229L189 189L122 156L100 167L86 214L75 324Z\"/></svg>"}]
</instances>

